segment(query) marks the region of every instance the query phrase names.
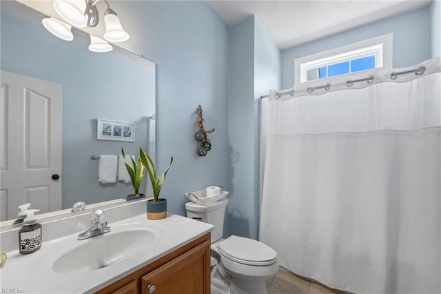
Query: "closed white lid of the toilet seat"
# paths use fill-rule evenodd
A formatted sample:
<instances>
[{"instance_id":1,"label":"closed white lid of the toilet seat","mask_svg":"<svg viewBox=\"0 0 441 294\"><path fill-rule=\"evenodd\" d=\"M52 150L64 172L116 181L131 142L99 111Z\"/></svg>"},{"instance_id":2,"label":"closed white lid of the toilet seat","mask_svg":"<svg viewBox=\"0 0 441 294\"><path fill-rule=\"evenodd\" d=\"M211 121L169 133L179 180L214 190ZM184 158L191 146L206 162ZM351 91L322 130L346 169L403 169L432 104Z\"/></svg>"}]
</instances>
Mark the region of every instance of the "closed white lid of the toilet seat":
<instances>
[{"instance_id":1,"label":"closed white lid of the toilet seat","mask_svg":"<svg viewBox=\"0 0 441 294\"><path fill-rule=\"evenodd\" d=\"M219 244L220 253L241 264L266 266L276 262L273 248L254 239L232 235Z\"/></svg>"}]
</instances>

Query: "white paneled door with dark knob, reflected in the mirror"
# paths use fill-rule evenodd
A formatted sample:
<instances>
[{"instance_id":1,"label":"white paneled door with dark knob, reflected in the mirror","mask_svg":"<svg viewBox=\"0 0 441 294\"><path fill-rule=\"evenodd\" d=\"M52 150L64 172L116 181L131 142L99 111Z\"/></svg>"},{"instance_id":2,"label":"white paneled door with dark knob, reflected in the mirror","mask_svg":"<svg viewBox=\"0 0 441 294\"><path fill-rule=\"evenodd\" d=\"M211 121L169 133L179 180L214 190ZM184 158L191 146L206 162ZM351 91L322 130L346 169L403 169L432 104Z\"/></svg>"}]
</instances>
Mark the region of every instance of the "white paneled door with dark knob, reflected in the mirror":
<instances>
[{"instance_id":1,"label":"white paneled door with dark knob, reflected in the mirror","mask_svg":"<svg viewBox=\"0 0 441 294\"><path fill-rule=\"evenodd\" d=\"M61 209L62 95L60 84L1 71L1 221L27 202Z\"/></svg>"}]
</instances>

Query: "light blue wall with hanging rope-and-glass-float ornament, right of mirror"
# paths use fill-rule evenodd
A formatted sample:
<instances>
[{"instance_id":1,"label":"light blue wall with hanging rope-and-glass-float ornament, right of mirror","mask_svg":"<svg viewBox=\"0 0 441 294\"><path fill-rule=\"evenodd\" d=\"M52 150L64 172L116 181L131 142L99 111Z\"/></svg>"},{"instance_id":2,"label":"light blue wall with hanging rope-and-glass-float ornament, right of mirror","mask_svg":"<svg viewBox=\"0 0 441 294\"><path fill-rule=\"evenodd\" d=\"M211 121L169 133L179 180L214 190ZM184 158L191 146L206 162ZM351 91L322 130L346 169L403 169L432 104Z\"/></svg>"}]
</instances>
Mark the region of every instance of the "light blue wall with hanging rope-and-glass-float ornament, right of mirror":
<instances>
[{"instance_id":1,"label":"light blue wall with hanging rope-and-glass-float ornament, right of mirror","mask_svg":"<svg viewBox=\"0 0 441 294\"><path fill-rule=\"evenodd\" d=\"M174 157L161 196L168 210L185 215L184 193L230 188L227 26L203 1L130 1L137 52L156 62L157 145L161 172ZM203 108L212 150L196 155L196 108Z\"/></svg>"}]
</instances>

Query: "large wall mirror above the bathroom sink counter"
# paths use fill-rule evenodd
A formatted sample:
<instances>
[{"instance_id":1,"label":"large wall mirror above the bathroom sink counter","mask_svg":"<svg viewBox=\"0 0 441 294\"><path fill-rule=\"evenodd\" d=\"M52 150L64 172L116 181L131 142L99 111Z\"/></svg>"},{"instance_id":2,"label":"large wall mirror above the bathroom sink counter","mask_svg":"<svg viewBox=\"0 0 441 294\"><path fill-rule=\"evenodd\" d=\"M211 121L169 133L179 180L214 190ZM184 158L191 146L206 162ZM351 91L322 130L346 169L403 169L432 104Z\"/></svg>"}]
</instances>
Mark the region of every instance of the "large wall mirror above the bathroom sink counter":
<instances>
[{"instance_id":1,"label":"large wall mirror above the bathroom sink counter","mask_svg":"<svg viewBox=\"0 0 441 294\"><path fill-rule=\"evenodd\" d=\"M1 1L2 73L11 72L62 87L62 106L58 111L62 116L61 150L47 144L52 139L49 138L49 130L57 127L51 125L51 119L36 121L32 117L25 119L25 124L28 124L25 128L29 133L25 134L21 148L17 146L20 144L11 143L16 139L14 137L20 137L13 131L10 122L19 115L4 112L8 105L12 106L12 96L2 78L0 130L4 140L1 146L1 221L17 219L17 206L27 202L32 203L31 208L40 209L38 214L41 215L52 210L70 211L76 202L85 202L89 206L113 200L125 201L125 197L133 193L131 182L116 179L112 184L100 183L99 160L90 159L91 155L119 155L121 148L126 154L138 155L139 147L142 147L154 156L155 64L142 55L140 57L114 44L111 52L91 52L88 50L88 33L76 28L72 28L74 40L63 41L41 25L44 17L41 12L17 1ZM30 90L25 95L31 98L34 95L43 101L41 105L36 104L37 108L55 109L54 105L45 102L46 97L38 91ZM30 108L26 104L28 96L25 96L25 103L21 106L23 109ZM134 141L97 139L97 119L134 124ZM37 143L41 141L40 145L48 145L40 146L40 157L30 155L35 151L35 148L29 148L32 140ZM52 177L50 181L60 186L61 195L53 193L45 184L24 184L24 188L17 188L14 183L22 184L28 174L8 175L23 163L14 162L11 153L17 153L12 156L14 158L21 156L25 169L37 170L39 175L43 175L51 166L54 162L52 155L57 153L62 168L56 174L61 175L59 179L53 179L51 175L48 177ZM34 162L30 164L32 160ZM9 189L8 185L12 188ZM146 178L140 193L145 193L145 185ZM11 193L12 190L19 192Z\"/></svg>"}]
</instances>

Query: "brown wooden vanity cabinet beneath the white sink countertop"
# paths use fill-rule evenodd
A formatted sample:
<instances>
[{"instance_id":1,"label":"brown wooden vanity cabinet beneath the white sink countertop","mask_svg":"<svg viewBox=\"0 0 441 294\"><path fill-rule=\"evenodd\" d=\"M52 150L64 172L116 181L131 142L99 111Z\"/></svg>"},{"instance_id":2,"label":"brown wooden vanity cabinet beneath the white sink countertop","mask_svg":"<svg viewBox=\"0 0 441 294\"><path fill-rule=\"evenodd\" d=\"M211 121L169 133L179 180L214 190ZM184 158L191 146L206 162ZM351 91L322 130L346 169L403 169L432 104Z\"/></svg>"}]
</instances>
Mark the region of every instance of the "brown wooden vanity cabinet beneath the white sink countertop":
<instances>
[{"instance_id":1,"label":"brown wooden vanity cabinet beneath the white sink countertop","mask_svg":"<svg viewBox=\"0 0 441 294\"><path fill-rule=\"evenodd\" d=\"M210 233L102 288L97 294L209 294Z\"/></svg>"}]
</instances>

